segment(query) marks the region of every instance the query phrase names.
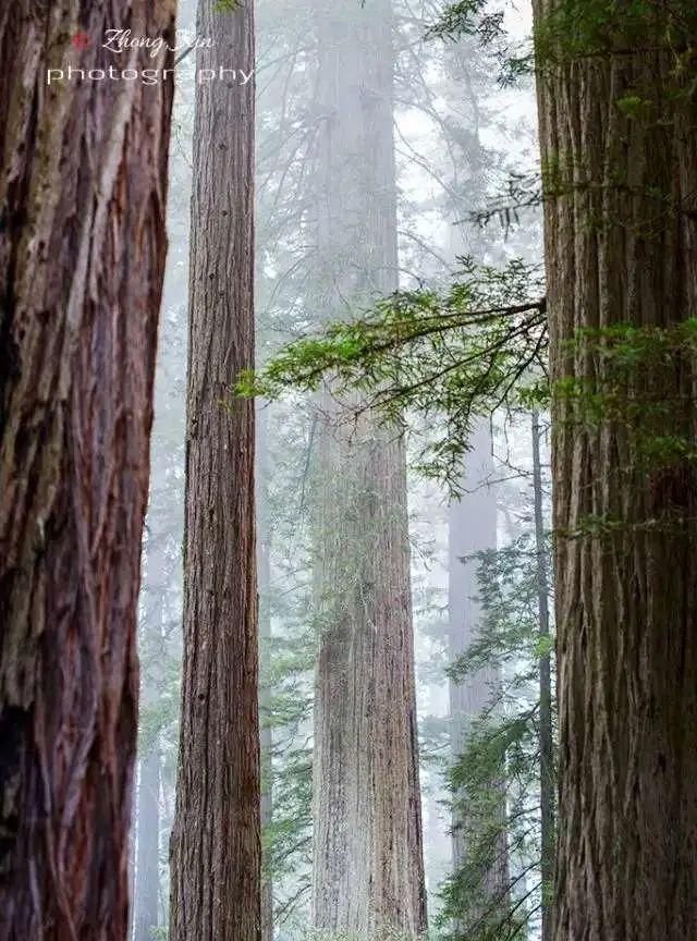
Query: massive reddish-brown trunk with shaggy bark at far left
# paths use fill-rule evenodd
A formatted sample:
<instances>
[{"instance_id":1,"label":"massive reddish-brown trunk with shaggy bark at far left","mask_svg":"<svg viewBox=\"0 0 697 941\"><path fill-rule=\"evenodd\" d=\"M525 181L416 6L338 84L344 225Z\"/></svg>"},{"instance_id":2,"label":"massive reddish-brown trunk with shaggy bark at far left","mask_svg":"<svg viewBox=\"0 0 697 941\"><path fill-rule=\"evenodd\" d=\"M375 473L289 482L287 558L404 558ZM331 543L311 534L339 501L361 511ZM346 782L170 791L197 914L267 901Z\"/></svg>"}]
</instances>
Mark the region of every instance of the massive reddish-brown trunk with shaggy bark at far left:
<instances>
[{"instance_id":1,"label":"massive reddish-brown trunk with shaggy bark at far left","mask_svg":"<svg viewBox=\"0 0 697 941\"><path fill-rule=\"evenodd\" d=\"M0 939L123 941L136 601L172 82L105 29L174 4L0 9ZM78 14L84 14L78 23ZM90 45L77 51L82 28ZM164 69L171 56L130 53Z\"/></svg>"}]
</instances>

